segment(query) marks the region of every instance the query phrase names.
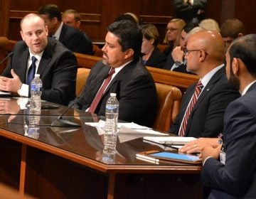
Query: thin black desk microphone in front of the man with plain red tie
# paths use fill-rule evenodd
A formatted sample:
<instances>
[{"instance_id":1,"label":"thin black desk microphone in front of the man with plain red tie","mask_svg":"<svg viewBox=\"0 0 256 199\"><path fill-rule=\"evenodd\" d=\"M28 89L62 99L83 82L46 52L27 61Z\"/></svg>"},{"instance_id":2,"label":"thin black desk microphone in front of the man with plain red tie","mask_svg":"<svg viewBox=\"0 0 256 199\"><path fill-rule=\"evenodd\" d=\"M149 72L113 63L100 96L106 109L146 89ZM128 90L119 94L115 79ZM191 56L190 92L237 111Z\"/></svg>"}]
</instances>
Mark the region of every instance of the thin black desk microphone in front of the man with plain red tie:
<instances>
[{"instance_id":1,"label":"thin black desk microphone in front of the man with plain red tie","mask_svg":"<svg viewBox=\"0 0 256 199\"><path fill-rule=\"evenodd\" d=\"M90 92L93 88L95 88L96 85L98 85L100 82L102 82L102 80L105 80L107 77L109 76L109 74L105 75L104 77L102 77L98 82L96 82L95 85L92 85L92 87L90 87L90 89L87 90L87 92L82 93L82 95L80 95L79 97L77 97L77 99L75 99L65 110L62 114L60 114L60 116L53 120L53 122L50 124L50 127L81 127L80 124L77 124L75 122L70 122L67 119L63 119L63 115L68 112L68 110L73 107L77 102L79 102L83 97L85 97L85 94L87 94L88 92Z\"/></svg>"}]
</instances>

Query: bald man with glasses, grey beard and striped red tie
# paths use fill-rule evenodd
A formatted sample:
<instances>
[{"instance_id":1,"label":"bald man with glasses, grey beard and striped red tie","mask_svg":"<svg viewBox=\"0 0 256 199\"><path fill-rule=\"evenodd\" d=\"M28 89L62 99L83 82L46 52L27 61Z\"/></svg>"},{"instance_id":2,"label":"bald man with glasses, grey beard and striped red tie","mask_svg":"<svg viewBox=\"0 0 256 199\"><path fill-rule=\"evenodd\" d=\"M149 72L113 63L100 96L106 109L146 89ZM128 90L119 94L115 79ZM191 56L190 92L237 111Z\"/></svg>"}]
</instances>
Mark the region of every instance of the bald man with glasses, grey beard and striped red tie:
<instances>
[{"instance_id":1,"label":"bald man with glasses, grey beard and striped red tie","mask_svg":"<svg viewBox=\"0 0 256 199\"><path fill-rule=\"evenodd\" d=\"M215 31L199 31L188 38L184 50L187 70L200 77L186 90L170 133L179 136L217 137L223 131L223 115L240 95L225 75L225 47Z\"/></svg>"}]
</instances>

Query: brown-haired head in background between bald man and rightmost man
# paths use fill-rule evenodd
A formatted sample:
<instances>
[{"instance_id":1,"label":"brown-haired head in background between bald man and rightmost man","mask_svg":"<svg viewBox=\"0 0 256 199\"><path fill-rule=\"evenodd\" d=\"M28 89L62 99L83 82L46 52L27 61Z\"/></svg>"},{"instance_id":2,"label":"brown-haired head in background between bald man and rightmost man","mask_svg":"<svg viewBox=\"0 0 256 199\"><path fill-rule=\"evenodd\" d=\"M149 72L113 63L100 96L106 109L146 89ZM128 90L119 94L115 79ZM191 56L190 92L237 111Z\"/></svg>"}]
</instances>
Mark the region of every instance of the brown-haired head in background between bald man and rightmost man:
<instances>
[{"instance_id":1,"label":"brown-haired head in background between bald man and rightmost man","mask_svg":"<svg viewBox=\"0 0 256 199\"><path fill-rule=\"evenodd\" d=\"M230 18L224 21L220 27L220 34L223 37L225 49L227 50L235 38L245 35L245 26L237 18Z\"/></svg>"}]
</instances>

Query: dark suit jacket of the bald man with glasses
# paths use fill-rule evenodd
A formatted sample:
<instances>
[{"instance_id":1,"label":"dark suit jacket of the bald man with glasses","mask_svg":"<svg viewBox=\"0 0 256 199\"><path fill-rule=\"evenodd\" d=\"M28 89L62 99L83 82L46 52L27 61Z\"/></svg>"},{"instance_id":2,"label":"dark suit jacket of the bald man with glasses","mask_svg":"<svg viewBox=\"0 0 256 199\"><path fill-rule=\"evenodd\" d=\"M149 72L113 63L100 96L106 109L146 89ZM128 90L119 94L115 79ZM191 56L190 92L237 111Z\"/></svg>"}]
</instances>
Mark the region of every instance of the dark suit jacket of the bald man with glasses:
<instances>
[{"instance_id":1,"label":"dark suit jacket of the bald man with glasses","mask_svg":"<svg viewBox=\"0 0 256 199\"><path fill-rule=\"evenodd\" d=\"M186 112L195 87L196 83L186 90L181 102L180 112L174 123L171 124L171 133L178 134L183 115ZM230 87L225 75L225 67L220 68L211 77L198 97L188 118L185 136L217 137L220 132L223 132L223 115L226 107L239 96L240 94Z\"/></svg>"}]
</instances>

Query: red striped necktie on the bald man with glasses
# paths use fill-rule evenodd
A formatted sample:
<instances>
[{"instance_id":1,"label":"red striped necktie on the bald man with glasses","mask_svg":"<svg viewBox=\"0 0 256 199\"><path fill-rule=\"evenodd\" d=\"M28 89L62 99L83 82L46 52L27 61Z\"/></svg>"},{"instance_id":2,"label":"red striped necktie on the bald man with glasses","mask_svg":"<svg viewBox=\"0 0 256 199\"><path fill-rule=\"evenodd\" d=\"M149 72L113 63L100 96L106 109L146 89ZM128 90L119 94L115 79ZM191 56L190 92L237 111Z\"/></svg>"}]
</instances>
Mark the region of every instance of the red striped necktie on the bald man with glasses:
<instances>
[{"instance_id":1,"label":"red striped necktie on the bald man with glasses","mask_svg":"<svg viewBox=\"0 0 256 199\"><path fill-rule=\"evenodd\" d=\"M179 136L184 136L185 135L186 126L187 126L187 122L188 122L188 117L191 114L191 111L192 111L194 105L196 104L196 100L198 99L202 88L203 88L203 84L202 84L201 81L199 81L196 84L195 92L193 93L193 96L191 98L191 102L188 104L188 107L187 107L186 112L185 112L185 116L183 117L183 120L181 122L181 127L180 127L180 130L178 131Z\"/></svg>"}]
</instances>

